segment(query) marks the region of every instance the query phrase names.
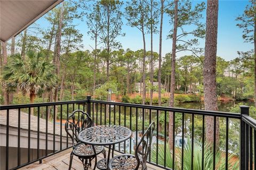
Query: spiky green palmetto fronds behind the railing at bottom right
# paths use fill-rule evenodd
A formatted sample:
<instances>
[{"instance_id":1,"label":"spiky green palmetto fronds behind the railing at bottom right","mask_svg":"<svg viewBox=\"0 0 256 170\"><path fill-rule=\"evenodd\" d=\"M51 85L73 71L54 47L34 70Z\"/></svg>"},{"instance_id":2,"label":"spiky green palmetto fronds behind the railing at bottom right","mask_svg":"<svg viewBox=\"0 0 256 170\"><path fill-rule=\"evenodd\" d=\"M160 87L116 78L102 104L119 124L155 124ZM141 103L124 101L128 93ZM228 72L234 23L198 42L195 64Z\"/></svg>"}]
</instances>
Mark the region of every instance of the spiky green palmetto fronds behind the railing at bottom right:
<instances>
[{"instance_id":1,"label":"spiky green palmetto fronds behind the railing at bottom right","mask_svg":"<svg viewBox=\"0 0 256 170\"><path fill-rule=\"evenodd\" d=\"M187 140L187 144L184 145L183 155L183 169L191 169L191 141ZM194 153L193 153L193 167L194 169L202 169L202 142L194 140ZM228 169L235 170L239 169L239 162L231 162L231 159L235 158L234 155L228 155ZM156 162L156 148L151 150L151 160ZM215 153L215 169L225 169L226 161L225 156L223 157L222 152L217 150ZM172 151L169 146L166 145L166 166L172 168ZM164 146L158 146L158 164L164 165ZM181 148L175 149L175 168L181 169ZM213 148L209 143L204 145L204 168L205 170L213 169Z\"/></svg>"}]
</instances>

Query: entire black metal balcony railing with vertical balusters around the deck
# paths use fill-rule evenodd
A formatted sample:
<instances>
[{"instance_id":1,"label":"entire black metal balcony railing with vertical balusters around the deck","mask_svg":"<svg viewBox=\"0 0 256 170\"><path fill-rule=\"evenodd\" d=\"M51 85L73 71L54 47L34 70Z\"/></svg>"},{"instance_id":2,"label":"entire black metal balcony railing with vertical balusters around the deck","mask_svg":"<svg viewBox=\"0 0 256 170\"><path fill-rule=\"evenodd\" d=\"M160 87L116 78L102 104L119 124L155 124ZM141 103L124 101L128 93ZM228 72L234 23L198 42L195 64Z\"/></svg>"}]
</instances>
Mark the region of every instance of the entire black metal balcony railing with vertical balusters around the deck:
<instances>
[{"instance_id":1,"label":"entire black metal balcony railing with vertical balusters around the deck","mask_svg":"<svg viewBox=\"0 0 256 170\"><path fill-rule=\"evenodd\" d=\"M165 169L184 169L188 166L189 169L205 169L208 165L211 165L213 169L220 166L222 169L229 169L230 165L235 164L234 160L230 160L230 155L234 155L235 160L240 160L240 169L252 169L256 160L256 135L254 135L256 134L256 121L249 116L247 106L241 106L241 113L227 113L91 100L88 96L86 100L9 105L1 106L0 109L2 116L6 114L5 124L1 123L1 129L6 128L4 130L5 155L1 155L1 158L5 157L5 160L4 164L3 160L1 162L1 169L15 169L37 161L42 162L43 158L70 148L71 143L63 130L62 122L65 122L68 114L75 109L86 111L91 116L94 125L118 124L130 128L133 131L132 138L115 147L116 151L130 154L134 153L133 148L140 140L140 135L154 121L156 132L148 162ZM15 117L18 118L17 126L12 123ZM27 121L22 120L24 117ZM169 118L173 118L173 121L169 122ZM206 121L209 118L213 120L214 141L210 147L205 138ZM27 123L27 127L24 128L22 122ZM45 130L42 130L42 125ZM15 147L11 144L13 141L9 140L9 137L13 135L9 132L13 128L18 131L18 142ZM27 133L26 160L23 156L21 157L21 152L24 151L21 146L21 130ZM34 138L31 139L31 132L34 131L36 142L33 141ZM173 142L169 140L169 131L170 134L174 134L172 135ZM221 134L216 135L216 133ZM233 145L237 145L237 141L233 141L235 139L231 138L231 133L232 135L240 134L236 147ZM216 143L218 136L219 142ZM36 147L32 143L36 143ZM43 149L42 143L45 145ZM36 149L36 156L31 156L33 152L31 146ZM17 148L17 162L15 163L13 155L10 155L10 148ZM209 152L205 154L206 149L209 148L212 154L211 164L209 164L210 160L206 159L209 157ZM236 152L237 148L240 149L238 152ZM201 152L200 157L197 156L198 150ZM221 160L218 156L221 156ZM200 164L200 168L195 162Z\"/></svg>"}]
</instances>

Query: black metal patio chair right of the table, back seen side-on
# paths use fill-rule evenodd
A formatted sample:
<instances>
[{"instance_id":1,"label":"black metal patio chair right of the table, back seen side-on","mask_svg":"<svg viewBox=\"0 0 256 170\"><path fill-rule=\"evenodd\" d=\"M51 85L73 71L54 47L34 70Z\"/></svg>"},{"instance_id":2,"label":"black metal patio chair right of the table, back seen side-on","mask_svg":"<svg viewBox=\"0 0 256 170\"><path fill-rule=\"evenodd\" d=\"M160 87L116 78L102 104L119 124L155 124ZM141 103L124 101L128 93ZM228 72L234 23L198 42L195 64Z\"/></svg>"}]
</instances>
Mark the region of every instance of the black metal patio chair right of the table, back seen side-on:
<instances>
[{"instance_id":1,"label":"black metal patio chair right of the table, back seen side-on","mask_svg":"<svg viewBox=\"0 0 256 170\"><path fill-rule=\"evenodd\" d=\"M135 155L122 154L117 155L109 160L109 169L147 169L147 158L151 149L155 122L152 122L145 133L142 135L140 142L136 146Z\"/></svg>"}]
</instances>

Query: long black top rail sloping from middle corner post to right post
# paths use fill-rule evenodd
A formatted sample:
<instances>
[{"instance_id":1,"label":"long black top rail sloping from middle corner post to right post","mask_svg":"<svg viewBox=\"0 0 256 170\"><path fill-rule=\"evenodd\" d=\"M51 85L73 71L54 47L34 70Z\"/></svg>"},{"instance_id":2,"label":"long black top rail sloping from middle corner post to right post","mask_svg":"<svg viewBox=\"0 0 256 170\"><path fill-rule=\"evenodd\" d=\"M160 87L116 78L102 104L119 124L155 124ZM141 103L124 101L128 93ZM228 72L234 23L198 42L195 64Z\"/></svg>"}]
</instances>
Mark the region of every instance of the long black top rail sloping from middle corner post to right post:
<instances>
[{"instance_id":1,"label":"long black top rail sloping from middle corner post to right post","mask_svg":"<svg viewBox=\"0 0 256 170\"><path fill-rule=\"evenodd\" d=\"M206 115L206 116L218 116L218 117L229 117L229 118L238 118L238 119L241 118L240 113L204 111L204 110L197 110L197 109L186 109L186 108L175 108L175 107L164 107L164 106L150 106L150 105L120 103L120 102L102 101L102 100L90 100L90 101L93 102L93 103L101 103L101 104L109 104L109 105L117 105L117 106L138 107L138 108L153 109L153 110L167 111L167 112L190 113L190 114L198 114L198 115Z\"/></svg>"}]
</instances>

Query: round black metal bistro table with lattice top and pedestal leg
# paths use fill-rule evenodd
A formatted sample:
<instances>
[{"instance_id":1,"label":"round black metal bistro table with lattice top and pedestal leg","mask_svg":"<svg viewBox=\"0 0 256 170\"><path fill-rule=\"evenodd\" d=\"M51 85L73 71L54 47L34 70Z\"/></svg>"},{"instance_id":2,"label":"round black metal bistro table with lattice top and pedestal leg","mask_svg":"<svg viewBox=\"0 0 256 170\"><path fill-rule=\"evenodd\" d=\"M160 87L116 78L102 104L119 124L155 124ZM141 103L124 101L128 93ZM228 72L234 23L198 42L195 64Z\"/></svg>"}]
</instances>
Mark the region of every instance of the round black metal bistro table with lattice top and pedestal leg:
<instances>
[{"instance_id":1,"label":"round black metal bistro table with lattice top and pedestal leg","mask_svg":"<svg viewBox=\"0 0 256 170\"><path fill-rule=\"evenodd\" d=\"M115 144L126 141L131 137L131 135L132 131L124 126L99 125L92 126L91 128L81 131L78 134L78 140L93 146L109 146L108 157L106 158L105 154L105 158L97 162L97 167L99 169L107 169L110 159L111 146L113 147L112 157L114 157Z\"/></svg>"}]
</instances>

